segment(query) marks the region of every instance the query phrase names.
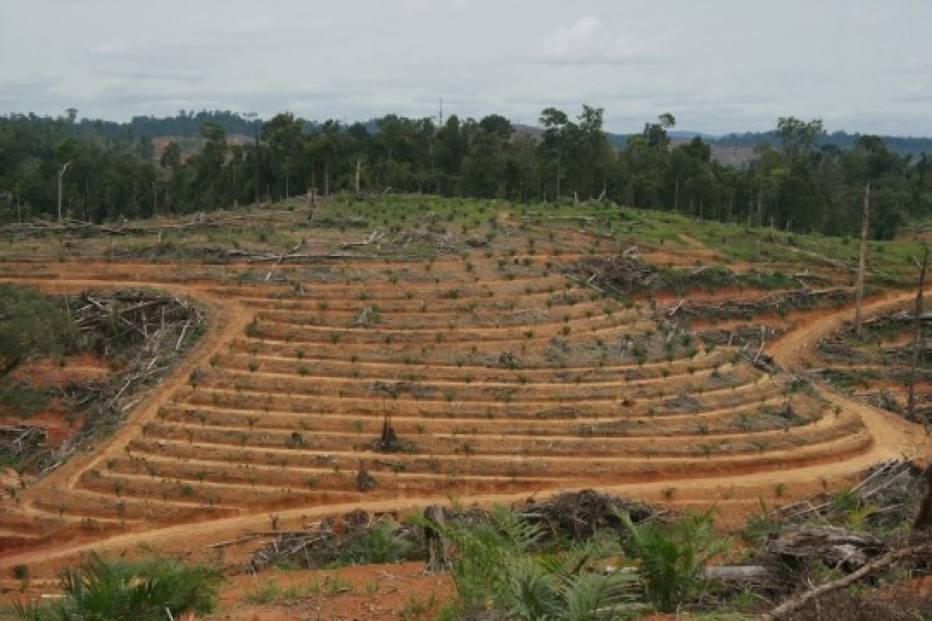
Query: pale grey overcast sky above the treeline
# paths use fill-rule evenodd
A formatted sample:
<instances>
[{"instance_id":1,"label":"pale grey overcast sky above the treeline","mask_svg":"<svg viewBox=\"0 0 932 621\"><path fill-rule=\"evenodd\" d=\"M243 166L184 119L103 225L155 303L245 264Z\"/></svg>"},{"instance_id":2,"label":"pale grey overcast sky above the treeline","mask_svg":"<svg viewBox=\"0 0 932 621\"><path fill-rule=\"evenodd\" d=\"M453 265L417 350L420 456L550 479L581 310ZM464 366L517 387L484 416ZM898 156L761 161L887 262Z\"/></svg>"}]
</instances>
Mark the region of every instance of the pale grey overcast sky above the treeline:
<instances>
[{"instance_id":1,"label":"pale grey overcast sky above the treeline","mask_svg":"<svg viewBox=\"0 0 932 621\"><path fill-rule=\"evenodd\" d=\"M179 110L932 136L929 0L0 0L0 114Z\"/></svg>"}]
</instances>

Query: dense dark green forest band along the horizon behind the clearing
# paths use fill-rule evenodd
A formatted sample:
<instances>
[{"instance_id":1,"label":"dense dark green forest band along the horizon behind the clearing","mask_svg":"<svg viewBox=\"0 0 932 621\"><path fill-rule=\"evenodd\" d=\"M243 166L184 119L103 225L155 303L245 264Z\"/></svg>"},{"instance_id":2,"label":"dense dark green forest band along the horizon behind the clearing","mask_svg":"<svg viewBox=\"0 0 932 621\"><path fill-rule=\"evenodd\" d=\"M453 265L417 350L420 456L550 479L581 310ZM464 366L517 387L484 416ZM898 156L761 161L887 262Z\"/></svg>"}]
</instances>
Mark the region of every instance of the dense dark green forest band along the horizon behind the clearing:
<instances>
[{"instance_id":1,"label":"dense dark green forest band along the horizon behind the clearing","mask_svg":"<svg viewBox=\"0 0 932 621\"><path fill-rule=\"evenodd\" d=\"M350 125L291 113L262 121L181 111L130 123L78 121L77 110L59 118L13 114L0 117L0 221L55 219L59 210L93 222L148 218L314 188L322 196L599 199L848 235L859 230L868 182L875 239L932 212L930 164L925 153L914 155L922 140L826 135L819 120L781 118L770 133L715 141L755 141L755 159L735 168L712 158L710 140L672 141L672 114L624 140L602 124L603 111L589 106L575 117L547 108L535 131L498 114L451 115L441 124L388 114Z\"/></svg>"}]
</instances>

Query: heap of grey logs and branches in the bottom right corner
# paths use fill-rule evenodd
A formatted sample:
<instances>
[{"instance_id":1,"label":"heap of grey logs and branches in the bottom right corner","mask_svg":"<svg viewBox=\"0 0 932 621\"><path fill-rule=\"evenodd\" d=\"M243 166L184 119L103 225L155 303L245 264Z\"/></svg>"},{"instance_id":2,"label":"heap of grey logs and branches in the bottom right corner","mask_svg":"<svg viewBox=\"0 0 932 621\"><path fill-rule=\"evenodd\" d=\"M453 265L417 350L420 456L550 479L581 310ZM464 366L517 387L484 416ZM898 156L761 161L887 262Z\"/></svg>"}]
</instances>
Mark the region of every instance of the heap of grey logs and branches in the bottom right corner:
<instances>
[{"instance_id":1,"label":"heap of grey logs and branches in the bottom right corner","mask_svg":"<svg viewBox=\"0 0 932 621\"><path fill-rule=\"evenodd\" d=\"M780 602L764 619L824 618L820 610L832 610L832 618L837 619L913 619L923 610L928 614L928 598L923 603L922 598L908 590L887 598L868 598L883 600L873 601L874 608L865 608L884 610L880 617L845 617L831 608L841 600L862 601L859 594L843 594L840 589L858 580L876 581L877 575L892 565L913 575L929 573L932 536L919 530L901 532L901 526L912 521L922 485L914 464L876 464L847 490L772 511L764 517L769 534L748 558L751 564L708 567L706 576L724 589L718 591L719 597L750 588L757 590L762 600ZM832 525L840 521L845 525ZM826 581L825 572L840 577Z\"/></svg>"}]
</instances>

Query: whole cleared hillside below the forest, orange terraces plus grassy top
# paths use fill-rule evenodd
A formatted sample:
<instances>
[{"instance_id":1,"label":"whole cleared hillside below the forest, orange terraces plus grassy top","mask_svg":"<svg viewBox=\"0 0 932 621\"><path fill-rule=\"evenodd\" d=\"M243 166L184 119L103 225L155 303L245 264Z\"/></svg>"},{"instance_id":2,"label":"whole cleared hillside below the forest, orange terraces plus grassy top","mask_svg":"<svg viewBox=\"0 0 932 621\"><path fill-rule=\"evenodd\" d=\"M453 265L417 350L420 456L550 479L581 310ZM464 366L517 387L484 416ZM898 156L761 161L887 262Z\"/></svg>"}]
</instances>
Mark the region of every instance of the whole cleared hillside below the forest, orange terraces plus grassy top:
<instances>
[{"instance_id":1,"label":"whole cleared hillside below the forest, orange terraces plus grassy top","mask_svg":"<svg viewBox=\"0 0 932 621\"><path fill-rule=\"evenodd\" d=\"M732 276L805 270L845 289L842 259L766 239L763 256L758 241L756 257L729 257L699 234L665 240L654 221L607 232L595 217L493 207L461 229L422 200L395 228L354 230L333 204L326 224L260 211L43 231L5 247L0 279L55 295L166 291L199 303L210 328L107 442L3 498L0 584L19 585L15 565L41 586L87 551L141 544L236 564L255 539L208 546L356 507L593 487L736 519L761 498L932 454L921 428L797 373L850 304L759 304L796 299L803 276L767 288L703 280L721 263ZM699 233L724 245L737 234ZM611 291L576 277L580 262L634 245L645 265L684 267L684 288ZM867 314L911 299L876 296ZM758 306L725 312L742 302ZM712 337L721 331L734 337ZM752 364L759 340L747 332L766 336L781 370ZM386 425L397 440L380 445Z\"/></svg>"}]
</instances>

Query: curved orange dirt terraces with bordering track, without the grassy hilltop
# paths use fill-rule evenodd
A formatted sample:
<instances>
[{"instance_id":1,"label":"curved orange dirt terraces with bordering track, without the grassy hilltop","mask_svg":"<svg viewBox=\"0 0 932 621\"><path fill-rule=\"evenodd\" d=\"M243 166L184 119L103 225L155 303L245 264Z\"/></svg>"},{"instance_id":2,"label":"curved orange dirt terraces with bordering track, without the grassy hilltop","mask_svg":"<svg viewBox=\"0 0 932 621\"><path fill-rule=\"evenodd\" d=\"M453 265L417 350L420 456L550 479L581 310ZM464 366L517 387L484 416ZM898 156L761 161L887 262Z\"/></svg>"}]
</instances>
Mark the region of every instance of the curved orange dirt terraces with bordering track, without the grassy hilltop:
<instances>
[{"instance_id":1,"label":"curved orange dirt terraces with bordering track, without the grassy hilltop","mask_svg":"<svg viewBox=\"0 0 932 621\"><path fill-rule=\"evenodd\" d=\"M759 498L932 454L894 414L662 330L644 306L568 284L540 258L271 267L0 264L0 279L49 292L147 287L193 298L211 318L106 444L15 504L4 498L0 584L27 564L41 585L91 550L211 557L210 544L245 532L358 507L404 513L579 487L717 504L739 520ZM799 368L851 312L806 315L767 352ZM386 424L400 442L376 451ZM360 491L360 469L374 488ZM223 548L223 563L253 546Z\"/></svg>"}]
</instances>

